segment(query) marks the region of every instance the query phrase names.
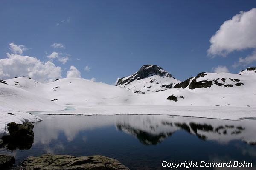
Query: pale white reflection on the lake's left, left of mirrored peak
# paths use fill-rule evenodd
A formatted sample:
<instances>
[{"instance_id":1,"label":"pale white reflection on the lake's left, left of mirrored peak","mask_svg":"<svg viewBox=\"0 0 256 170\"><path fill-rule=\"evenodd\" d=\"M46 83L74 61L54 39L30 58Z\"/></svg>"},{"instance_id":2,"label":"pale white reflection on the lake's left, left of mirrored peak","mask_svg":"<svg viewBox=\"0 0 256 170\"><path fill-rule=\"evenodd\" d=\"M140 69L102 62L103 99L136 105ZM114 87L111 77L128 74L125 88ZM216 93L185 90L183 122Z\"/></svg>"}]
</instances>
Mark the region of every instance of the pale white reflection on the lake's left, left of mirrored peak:
<instances>
[{"instance_id":1,"label":"pale white reflection on the lake's left, left of mirrored peak","mask_svg":"<svg viewBox=\"0 0 256 170\"><path fill-rule=\"evenodd\" d=\"M80 131L105 127L114 124L113 119L105 119L102 122L99 116L55 116L40 115L42 122L36 122L34 127L34 144L49 145L56 141L60 133L64 133L67 141L72 141Z\"/></svg>"}]
</instances>

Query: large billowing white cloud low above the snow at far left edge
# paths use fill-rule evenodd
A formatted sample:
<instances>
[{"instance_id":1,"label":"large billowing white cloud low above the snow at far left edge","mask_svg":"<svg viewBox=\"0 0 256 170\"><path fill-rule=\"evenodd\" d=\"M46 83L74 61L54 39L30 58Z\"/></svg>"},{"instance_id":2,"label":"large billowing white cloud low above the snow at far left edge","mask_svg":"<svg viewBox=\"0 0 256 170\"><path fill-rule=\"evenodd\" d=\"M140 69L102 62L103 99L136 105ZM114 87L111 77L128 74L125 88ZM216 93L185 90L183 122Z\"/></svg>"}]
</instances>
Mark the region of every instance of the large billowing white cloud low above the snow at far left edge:
<instances>
[{"instance_id":1,"label":"large billowing white cloud low above the snow at far left edge","mask_svg":"<svg viewBox=\"0 0 256 170\"><path fill-rule=\"evenodd\" d=\"M41 62L35 57L7 53L0 59L0 79L27 76L39 82L52 82L61 78L61 67L52 62Z\"/></svg>"}]
</instances>

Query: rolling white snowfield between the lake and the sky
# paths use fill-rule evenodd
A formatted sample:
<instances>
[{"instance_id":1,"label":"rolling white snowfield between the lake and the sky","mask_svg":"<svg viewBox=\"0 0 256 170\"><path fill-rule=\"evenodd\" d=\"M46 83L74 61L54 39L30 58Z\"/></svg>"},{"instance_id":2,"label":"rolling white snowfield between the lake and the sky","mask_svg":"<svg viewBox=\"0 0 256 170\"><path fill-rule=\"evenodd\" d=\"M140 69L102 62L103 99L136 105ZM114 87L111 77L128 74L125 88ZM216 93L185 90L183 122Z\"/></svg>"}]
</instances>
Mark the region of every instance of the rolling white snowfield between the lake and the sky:
<instances>
[{"instance_id":1,"label":"rolling white snowfield between the lake and the sky","mask_svg":"<svg viewBox=\"0 0 256 170\"><path fill-rule=\"evenodd\" d=\"M40 83L29 77L2 80L0 137L8 134L6 124L9 122L40 121L38 116L26 113L31 111L44 111L40 114L163 114L231 120L255 118L256 73L253 69L239 74L201 73L181 82L183 84L176 84L177 88L148 94L79 78L50 83ZM140 87L136 81L132 85ZM177 101L167 100L171 95ZM61 111L68 107L76 110Z\"/></svg>"}]
</instances>

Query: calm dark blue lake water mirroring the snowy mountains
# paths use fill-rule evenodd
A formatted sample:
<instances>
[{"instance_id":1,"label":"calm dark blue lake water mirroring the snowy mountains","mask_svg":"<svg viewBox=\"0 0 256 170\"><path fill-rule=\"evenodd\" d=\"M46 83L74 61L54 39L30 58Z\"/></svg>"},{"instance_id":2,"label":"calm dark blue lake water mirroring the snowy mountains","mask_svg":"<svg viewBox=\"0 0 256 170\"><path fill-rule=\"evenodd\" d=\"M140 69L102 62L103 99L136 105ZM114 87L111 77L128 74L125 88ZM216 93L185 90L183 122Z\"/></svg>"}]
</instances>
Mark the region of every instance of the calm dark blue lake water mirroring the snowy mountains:
<instances>
[{"instance_id":1,"label":"calm dark blue lake water mirroring the snowy mountains","mask_svg":"<svg viewBox=\"0 0 256 170\"><path fill-rule=\"evenodd\" d=\"M16 163L27 156L54 153L108 156L131 170L256 169L256 120L166 115L38 116L44 120L33 123L35 138L29 150L2 148L0 153L15 156ZM191 161L198 162L197 167L162 166ZM201 161L231 161L231 165L245 161L253 167L200 167Z\"/></svg>"}]
</instances>

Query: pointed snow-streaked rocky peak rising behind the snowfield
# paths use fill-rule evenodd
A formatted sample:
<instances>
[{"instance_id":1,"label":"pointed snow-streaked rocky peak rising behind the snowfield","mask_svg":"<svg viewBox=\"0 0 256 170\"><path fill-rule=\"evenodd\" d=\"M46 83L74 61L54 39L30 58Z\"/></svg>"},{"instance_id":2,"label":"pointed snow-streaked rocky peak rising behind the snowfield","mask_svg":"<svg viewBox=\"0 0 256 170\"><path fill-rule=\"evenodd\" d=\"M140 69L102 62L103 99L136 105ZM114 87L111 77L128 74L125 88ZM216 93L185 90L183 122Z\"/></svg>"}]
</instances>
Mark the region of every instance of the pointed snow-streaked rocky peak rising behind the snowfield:
<instances>
[{"instance_id":1,"label":"pointed snow-streaked rocky peak rising behind the snowfield","mask_svg":"<svg viewBox=\"0 0 256 170\"><path fill-rule=\"evenodd\" d=\"M119 79L116 86L146 94L167 90L179 82L157 65L143 65L136 73Z\"/></svg>"}]
</instances>

